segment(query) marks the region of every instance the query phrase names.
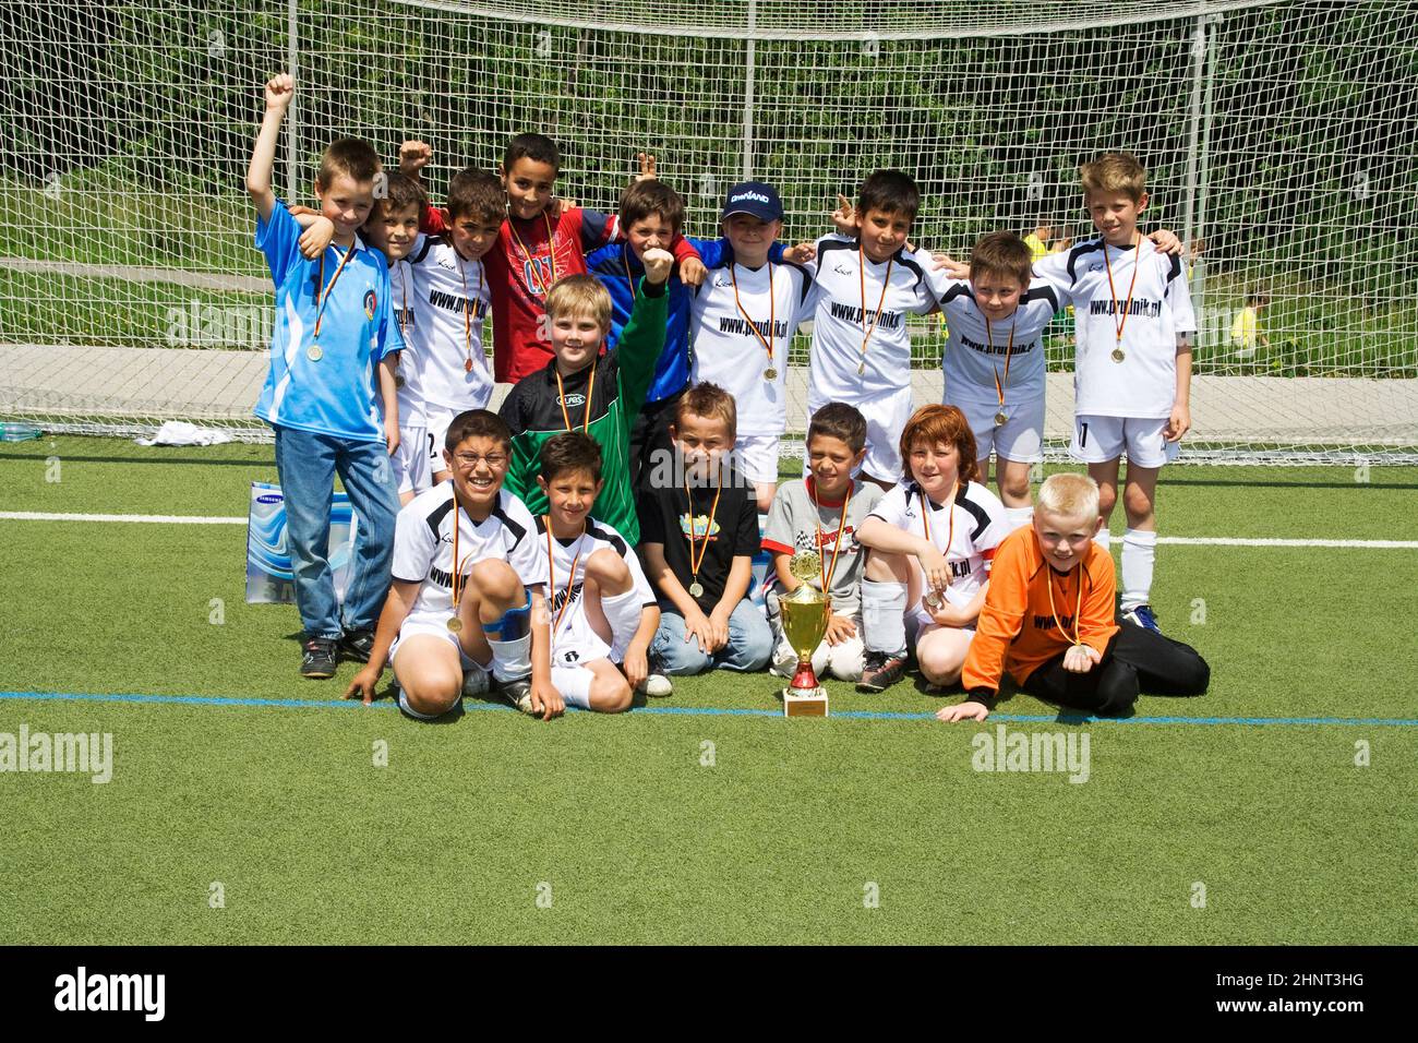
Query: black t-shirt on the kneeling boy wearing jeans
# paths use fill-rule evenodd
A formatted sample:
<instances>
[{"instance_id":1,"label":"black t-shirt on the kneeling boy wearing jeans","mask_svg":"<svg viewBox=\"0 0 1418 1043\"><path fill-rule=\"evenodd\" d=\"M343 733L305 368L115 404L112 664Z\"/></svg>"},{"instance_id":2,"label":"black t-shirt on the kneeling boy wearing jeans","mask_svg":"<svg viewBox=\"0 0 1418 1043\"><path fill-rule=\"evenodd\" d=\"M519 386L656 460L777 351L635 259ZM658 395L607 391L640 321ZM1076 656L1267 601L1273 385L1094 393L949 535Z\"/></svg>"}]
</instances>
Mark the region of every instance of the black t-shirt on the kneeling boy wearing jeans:
<instances>
[{"instance_id":1,"label":"black t-shirt on the kneeling boy wearing jeans","mask_svg":"<svg viewBox=\"0 0 1418 1043\"><path fill-rule=\"evenodd\" d=\"M693 529L693 542L695 559L700 553L703 555L698 579L705 592L695 600L706 614L713 612L719 599L723 597L723 587L729 582L733 559L736 556L753 558L761 542L759 538L759 505L753 485L744 481L737 471L729 473L712 524L706 526L715 492L715 487L691 485L689 497L693 511L688 509L689 504L685 501L682 485L678 488L647 485L640 495L640 541L641 543L664 545L665 562L685 590L695 580L695 572L689 565L689 517L693 514L699 519ZM708 549L705 548L706 528L709 532ZM658 586L655 597L659 600L662 612L679 613L679 609Z\"/></svg>"}]
</instances>

